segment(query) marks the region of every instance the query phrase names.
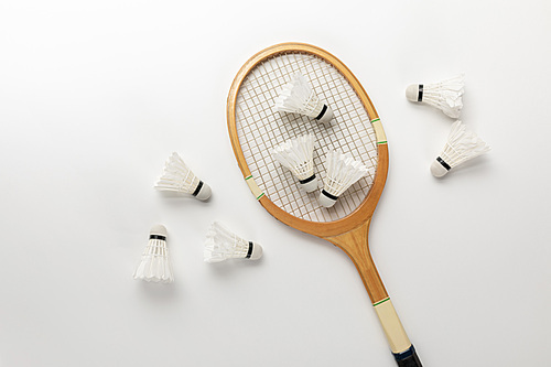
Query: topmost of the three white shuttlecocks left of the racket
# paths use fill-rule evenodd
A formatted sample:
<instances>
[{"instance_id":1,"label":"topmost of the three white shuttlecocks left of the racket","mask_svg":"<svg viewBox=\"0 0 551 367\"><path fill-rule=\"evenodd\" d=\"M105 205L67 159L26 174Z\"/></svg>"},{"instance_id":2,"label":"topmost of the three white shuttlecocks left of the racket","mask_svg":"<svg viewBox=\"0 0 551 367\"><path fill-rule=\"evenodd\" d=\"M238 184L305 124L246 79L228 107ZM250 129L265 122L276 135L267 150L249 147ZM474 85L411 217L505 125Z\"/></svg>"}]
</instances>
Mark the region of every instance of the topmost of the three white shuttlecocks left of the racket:
<instances>
[{"instance_id":1,"label":"topmost of the three white shuttlecocks left of the racket","mask_svg":"<svg viewBox=\"0 0 551 367\"><path fill-rule=\"evenodd\" d=\"M212 193L210 186L201 181L177 153L169 156L164 164L164 173L156 182L155 188L191 194L199 201L206 201Z\"/></svg>"}]
</instances>

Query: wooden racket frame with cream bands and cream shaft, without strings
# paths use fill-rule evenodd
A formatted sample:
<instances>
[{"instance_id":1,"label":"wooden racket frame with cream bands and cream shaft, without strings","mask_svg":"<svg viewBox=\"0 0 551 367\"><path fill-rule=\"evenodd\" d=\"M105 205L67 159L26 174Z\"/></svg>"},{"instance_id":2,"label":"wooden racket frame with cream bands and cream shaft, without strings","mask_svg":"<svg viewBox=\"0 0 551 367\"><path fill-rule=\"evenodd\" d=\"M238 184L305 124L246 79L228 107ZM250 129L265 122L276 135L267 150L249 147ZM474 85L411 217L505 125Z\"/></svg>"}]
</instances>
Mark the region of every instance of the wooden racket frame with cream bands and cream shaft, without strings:
<instances>
[{"instance_id":1,"label":"wooden racket frame with cream bands and cream shaft, without strings","mask_svg":"<svg viewBox=\"0 0 551 367\"><path fill-rule=\"evenodd\" d=\"M374 125L374 130L377 138L378 164L375 179L369 193L361 202L361 204L346 217L334 222L310 222L298 218L278 207L266 195L258 195L258 193L255 193L255 190L252 190L252 187L256 186L256 184L253 186L250 186L249 182L249 186L251 187L251 191L253 191L255 196L258 195L257 199L260 202L260 204L278 220L306 234L326 239L335 246L339 247L348 255L348 257L356 266L356 269L361 277L367 293L369 294L369 298L376 309L387 339L390 344L390 348L395 354L395 358L397 358L397 360L401 358L411 358L411 354L414 354L414 348L409 342L409 338L406 335L406 332L390 302L387 290L382 284L377 268L375 267L368 245L369 224L371 223L375 207L377 206L377 203L382 194L385 183L387 181L388 145L382 126L379 121L379 116L371 100L369 99L369 96L364 90L364 87L359 84L358 79L348 69L348 67L346 67L337 57L335 57L331 53L305 43L277 44L260 51L251 58L249 58L249 61L247 61L247 63L245 63L245 65L237 73L237 76L231 84L231 88L229 90L227 99L227 121L229 137L231 140L231 145L234 148L234 153L239 164L239 169L241 170L244 179L250 180L251 173L247 165L247 161L241 150L239 137L237 133L236 102L239 89L247 75L257 65L271 57L285 53L306 53L324 60L328 64L333 65L338 72L341 72L341 74L343 74L343 76L354 88L357 96L361 100L361 104L364 105L364 108L366 109L371 123ZM375 126L375 121L377 121L377 127ZM400 361L399 365L401 365ZM421 365L419 364L419 366Z\"/></svg>"}]
</instances>

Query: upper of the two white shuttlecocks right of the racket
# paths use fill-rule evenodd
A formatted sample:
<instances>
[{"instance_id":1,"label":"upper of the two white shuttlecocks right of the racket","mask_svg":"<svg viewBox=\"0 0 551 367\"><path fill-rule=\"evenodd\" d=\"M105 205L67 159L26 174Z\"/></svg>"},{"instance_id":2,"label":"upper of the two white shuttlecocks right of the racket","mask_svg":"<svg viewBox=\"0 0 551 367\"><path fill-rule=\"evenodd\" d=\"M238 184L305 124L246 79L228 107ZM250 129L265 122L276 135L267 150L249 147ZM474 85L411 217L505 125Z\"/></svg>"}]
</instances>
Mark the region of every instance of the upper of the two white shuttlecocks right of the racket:
<instances>
[{"instance_id":1,"label":"upper of the two white shuttlecocks right of the racket","mask_svg":"<svg viewBox=\"0 0 551 367\"><path fill-rule=\"evenodd\" d=\"M442 110L452 118L458 118L463 108L465 75L434 84L412 84L406 88L406 97L411 101L423 102Z\"/></svg>"}]
</instances>

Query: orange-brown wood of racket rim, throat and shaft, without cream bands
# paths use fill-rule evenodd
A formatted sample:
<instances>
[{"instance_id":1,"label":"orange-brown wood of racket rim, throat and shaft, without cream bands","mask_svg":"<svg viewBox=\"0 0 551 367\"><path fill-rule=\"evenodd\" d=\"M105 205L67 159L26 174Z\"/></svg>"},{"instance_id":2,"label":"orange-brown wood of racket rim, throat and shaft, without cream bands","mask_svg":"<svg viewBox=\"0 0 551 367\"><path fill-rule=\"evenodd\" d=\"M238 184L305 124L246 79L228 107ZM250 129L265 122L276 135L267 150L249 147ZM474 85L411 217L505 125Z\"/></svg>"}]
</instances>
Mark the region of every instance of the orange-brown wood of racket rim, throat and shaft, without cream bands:
<instances>
[{"instance_id":1,"label":"orange-brown wood of racket rim, throat and shaft, without cream bands","mask_svg":"<svg viewBox=\"0 0 551 367\"><path fill-rule=\"evenodd\" d=\"M228 96L227 105L227 118L228 118L228 129L229 137L231 139L231 145L234 148L234 153L236 155L239 169L244 177L250 175L250 170L245 160L245 155L239 143L239 137L237 134L236 126L236 100L239 88L251 69L253 69L258 64L262 63L267 58L278 56L279 54L284 54L289 52L305 52L313 54L322 60L326 61L328 64L333 65L338 72L341 72L346 79L350 83L352 87L358 95L361 104L367 110L367 114L371 120L378 118L377 111L369 99L369 96L364 90L364 87L359 84L358 79L352 74L352 72L334 55L328 52L304 43L282 43L271 47L268 47L256 55L253 55L237 73L237 76L231 84ZM368 195L361 202L361 204L346 217L334 220L334 222L310 222L298 218L285 211L281 209L279 206L273 204L266 195L262 196L259 202L262 206L282 223L314 235L320 238L324 238L332 244L338 246L343 251L345 251L348 257L353 260L358 272L364 281L364 284L369 293L369 298L372 303L377 303L381 300L388 298L387 291L382 281L375 268L375 263L369 253L367 237L369 231L369 223L371 222L371 216L377 206L377 202L382 193L385 183L387 181L388 172L388 147L386 143L378 144L378 164L375 174L375 180Z\"/></svg>"}]
</instances>

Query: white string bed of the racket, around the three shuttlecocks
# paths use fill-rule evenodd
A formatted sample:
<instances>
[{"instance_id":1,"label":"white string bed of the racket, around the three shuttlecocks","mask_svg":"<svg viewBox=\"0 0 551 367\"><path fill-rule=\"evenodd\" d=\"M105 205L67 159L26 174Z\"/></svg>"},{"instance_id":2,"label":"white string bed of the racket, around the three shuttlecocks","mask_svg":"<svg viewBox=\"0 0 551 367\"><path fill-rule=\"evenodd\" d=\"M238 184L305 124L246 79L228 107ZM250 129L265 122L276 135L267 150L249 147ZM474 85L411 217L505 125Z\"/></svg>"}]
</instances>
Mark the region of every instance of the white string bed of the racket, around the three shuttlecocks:
<instances>
[{"instance_id":1,"label":"white string bed of the racket, around the three shuttlecocks","mask_svg":"<svg viewBox=\"0 0 551 367\"><path fill-rule=\"evenodd\" d=\"M240 140L246 160L250 162L250 172L259 186L278 206L313 222L331 222L352 213L367 195L374 176L368 175L350 187L333 208L321 208L315 195L301 193L292 175L273 164L269 149L287 139L312 132L321 141L320 147L349 152L355 159L368 158L367 165L377 165L375 133L369 126L369 116L341 74L327 66L317 57L296 53L267 60L244 80L236 111L239 134L249 134ZM321 98L336 107L339 115L336 116L335 127L316 126L300 115L272 110L277 91L298 72L307 76ZM350 101L354 100L352 97L356 101ZM325 179L322 169L324 155L322 149L314 149L314 165L322 182Z\"/></svg>"}]
</instances>

